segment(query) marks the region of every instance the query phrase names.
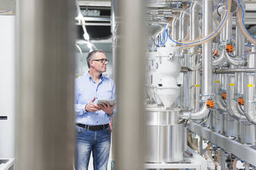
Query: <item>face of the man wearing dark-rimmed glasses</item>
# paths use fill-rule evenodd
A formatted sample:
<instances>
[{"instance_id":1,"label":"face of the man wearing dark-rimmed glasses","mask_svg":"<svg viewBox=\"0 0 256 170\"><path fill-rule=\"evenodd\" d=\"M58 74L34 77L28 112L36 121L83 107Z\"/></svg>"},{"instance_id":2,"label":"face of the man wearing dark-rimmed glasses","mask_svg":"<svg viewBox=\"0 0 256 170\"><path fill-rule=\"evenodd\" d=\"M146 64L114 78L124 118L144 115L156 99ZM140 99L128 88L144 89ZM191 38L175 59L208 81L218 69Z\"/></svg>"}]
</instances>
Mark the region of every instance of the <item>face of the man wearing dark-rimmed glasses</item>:
<instances>
[{"instance_id":1,"label":"face of the man wearing dark-rimmed glasses","mask_svg":"<svg viewBox=\"0 0 256 170\"><path fill-rule=\"evenodd\" d=\"M103 60L107 60L107 57L104 53L95 53L92 57L92 60L90 61L91 67L93 67L96 71L100 73L107 71L107 62Z\"/></svg>"}]
</instances>

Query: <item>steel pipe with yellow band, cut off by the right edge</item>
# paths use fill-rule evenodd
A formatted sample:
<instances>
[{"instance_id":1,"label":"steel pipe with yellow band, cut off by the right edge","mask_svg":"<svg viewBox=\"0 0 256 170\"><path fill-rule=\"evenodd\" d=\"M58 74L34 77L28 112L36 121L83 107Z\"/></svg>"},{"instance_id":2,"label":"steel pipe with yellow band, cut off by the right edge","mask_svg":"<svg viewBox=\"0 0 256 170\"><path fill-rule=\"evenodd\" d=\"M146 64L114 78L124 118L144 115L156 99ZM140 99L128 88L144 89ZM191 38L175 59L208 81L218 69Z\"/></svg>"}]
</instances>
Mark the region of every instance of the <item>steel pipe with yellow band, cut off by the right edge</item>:
<instances>
[{"instance_id":1,"label":"steel pipe with yellow band, cut off by the right edge","mask_svg":"<svg viewBox=\"0 0 256 170\"><path fill-rule=\"evenodd\" d=\"M255 45L252 47L252 52L256 52ZM255 68L256 66L256 55L251 53L248 56L248 68ZM246 95L244 102L244 114L250 123L256 125L256 112L254 104L255 95L255 73L246 74Z\"/></svg>"}]
</instances>

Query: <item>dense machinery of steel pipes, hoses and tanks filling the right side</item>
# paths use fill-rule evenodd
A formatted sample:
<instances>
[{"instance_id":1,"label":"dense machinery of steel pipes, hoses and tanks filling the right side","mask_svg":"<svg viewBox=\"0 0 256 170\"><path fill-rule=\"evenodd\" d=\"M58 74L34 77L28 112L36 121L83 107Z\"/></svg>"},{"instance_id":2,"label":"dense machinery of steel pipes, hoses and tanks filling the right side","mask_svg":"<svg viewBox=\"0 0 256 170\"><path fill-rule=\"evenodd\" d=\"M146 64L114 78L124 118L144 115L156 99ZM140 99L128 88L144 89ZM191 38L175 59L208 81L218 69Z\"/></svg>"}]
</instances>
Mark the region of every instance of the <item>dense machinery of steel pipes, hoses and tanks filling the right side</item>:
<instances>
[{"instance_id":1,"label":"dense machinery of steel pipes, hoses and tanks filling the right side","mask_svg":"<svg viewBox=\"0 0 256 170\"><path fill-rule=\"evenodd\" d=\"M255 169L255 1L148 2L145 167Z\"/></svg>"}]
</instances>

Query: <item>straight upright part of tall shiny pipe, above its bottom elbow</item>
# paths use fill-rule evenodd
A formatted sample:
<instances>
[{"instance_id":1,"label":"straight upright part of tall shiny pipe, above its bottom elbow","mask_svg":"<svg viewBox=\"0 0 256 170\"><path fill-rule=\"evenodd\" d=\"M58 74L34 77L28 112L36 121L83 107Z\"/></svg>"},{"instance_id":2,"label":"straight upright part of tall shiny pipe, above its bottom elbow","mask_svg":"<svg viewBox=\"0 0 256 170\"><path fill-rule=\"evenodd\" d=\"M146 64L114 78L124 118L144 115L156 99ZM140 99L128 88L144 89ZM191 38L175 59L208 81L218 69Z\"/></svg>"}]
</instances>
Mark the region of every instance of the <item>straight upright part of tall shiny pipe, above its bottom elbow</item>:
<instances>
[{"instance_id":1,"label":"straight upright part of tall shiny pipe, above its bottom elbow","mask_svg":"<svg viewBox=\"0 0 256 170\"><path fill-rule=\"evenodd\" d=\"M212 19L213 19L213 1L211 0L203 0L203 35L206 36L211 33L212 29ZM212 40L205 42L202 45L202 79L204 80L203 84L203 94L204 95L212 95L212 57L211 57L211 49L212 49Z\"/></svg>"}]
</instances>

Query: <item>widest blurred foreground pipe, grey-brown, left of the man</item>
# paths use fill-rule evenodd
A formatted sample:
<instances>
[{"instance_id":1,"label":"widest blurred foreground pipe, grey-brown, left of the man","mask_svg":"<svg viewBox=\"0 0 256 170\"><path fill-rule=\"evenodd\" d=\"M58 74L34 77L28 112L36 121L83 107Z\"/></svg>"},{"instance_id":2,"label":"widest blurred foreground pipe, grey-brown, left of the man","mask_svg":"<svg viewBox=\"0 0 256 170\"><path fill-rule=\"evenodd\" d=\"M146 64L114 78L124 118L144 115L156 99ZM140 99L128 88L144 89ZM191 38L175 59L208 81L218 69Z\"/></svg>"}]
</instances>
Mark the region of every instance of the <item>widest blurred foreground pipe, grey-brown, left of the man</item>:
<instances>
[{"instance_id":1,"label":"widest blurred foreground pipe, grey-brown, left of the man","mask_svg":"<svg viewBox=\"0 0 256 170\"><path fill-rule=\"evenodd\" d=\"M74 1L18 1L17 169L73 169Z\"/></svg>"}]
</instances>

